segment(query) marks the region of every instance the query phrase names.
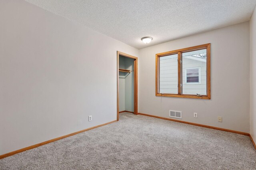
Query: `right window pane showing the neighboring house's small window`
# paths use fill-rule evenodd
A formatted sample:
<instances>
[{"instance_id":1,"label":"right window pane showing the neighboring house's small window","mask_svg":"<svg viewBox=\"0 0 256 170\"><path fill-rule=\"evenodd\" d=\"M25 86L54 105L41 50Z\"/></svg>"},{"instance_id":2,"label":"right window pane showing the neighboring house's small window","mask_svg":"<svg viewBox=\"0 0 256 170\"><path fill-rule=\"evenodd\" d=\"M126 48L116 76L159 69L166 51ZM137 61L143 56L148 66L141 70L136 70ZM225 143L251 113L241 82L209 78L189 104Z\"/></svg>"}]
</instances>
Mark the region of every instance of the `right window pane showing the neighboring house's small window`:
<instances>
[{"instance_id":1,"label":"right window pane showing the neighboring house's small window","mask_svg":"<svg viewBox=\"0 0 256 170\"><path fill-rule=\"evenodd\" d=\"M206 49L182 53L182 94L207 94L206 59Z\"/></svg>"}]
</instances>

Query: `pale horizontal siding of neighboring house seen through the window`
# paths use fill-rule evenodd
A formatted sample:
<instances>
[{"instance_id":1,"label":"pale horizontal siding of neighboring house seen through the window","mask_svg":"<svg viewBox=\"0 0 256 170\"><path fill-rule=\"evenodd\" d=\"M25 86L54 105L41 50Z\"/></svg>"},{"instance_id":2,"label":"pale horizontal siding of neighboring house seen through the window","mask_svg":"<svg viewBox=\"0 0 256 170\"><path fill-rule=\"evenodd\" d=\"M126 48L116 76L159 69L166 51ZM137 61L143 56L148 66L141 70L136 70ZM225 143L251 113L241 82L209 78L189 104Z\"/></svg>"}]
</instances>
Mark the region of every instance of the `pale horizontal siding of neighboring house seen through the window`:
<instances>
[{"instance_id":1,"label":"pale horizontal siding of neighboring house seen through the window","mask_svg":"<svg viewBox=\"0 0 256 170\"><path fill-rule=\"evenodd\" d=\"M205 60L206 61L206 60ZM206 94L206 62L184 58L182 61L182 90L184 94ZM185 68L200 67L200 84L185 83ZM160 58L160 93L178 94L178 60Z\"/></svg>"}]
</instances>

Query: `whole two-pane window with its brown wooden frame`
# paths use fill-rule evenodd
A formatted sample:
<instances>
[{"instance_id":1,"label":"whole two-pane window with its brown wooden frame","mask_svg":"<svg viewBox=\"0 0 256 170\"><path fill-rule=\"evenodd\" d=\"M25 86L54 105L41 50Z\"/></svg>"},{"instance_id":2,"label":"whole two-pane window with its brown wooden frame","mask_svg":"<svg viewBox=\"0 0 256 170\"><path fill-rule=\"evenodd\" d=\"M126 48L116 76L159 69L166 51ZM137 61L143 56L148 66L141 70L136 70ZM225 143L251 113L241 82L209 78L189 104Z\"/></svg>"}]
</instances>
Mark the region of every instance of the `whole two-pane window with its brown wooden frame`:
<instances>
[{"instance_id":1,"label":"whole two-pane window with its brown wooden frame","mask_svg":"<svg viewBox=\"0 0 256 170\"><path fill-rule=\"evenodd\" d=\"M210 43L156 54L156 96L210 99Z\"/></svg>"}]
</instances>

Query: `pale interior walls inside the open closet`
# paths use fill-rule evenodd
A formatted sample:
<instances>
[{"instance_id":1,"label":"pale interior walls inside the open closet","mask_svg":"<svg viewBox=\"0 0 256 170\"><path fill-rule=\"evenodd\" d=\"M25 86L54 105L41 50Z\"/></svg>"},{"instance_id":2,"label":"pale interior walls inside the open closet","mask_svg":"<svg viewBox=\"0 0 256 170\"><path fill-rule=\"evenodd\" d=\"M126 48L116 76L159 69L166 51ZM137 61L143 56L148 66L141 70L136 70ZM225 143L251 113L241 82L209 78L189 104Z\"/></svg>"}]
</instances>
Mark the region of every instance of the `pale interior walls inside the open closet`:
<instances>
[{"instance_id":1,"label":"pale interior walls inside the open closet","mask_svg":"<svg viewBox=\"0 0 256 170\"><path fill-rule=\"evenodd\" d=\"M119 111L134 111L134 59L119 56L119 69L132 72L119 72Z\"/></svg>"}]
</instances>

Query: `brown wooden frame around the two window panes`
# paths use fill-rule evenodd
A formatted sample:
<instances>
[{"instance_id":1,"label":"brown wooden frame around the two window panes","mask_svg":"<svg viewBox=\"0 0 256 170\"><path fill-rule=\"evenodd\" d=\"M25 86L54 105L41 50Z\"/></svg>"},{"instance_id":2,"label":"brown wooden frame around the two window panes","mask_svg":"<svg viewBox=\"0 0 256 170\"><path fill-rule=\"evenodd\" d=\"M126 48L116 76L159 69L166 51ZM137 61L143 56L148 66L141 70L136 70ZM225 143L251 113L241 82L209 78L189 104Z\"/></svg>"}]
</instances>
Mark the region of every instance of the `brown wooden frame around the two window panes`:
<instances>
[{"instance_id":1,"label":"brown wooden frame around the two window panes","mask_svg":"<svg viewBox=\"0 0 256 170\"><path fill-rule=\"evenodd\" d=\"M211 99L211 83L210 83L210 43L203 44L203 45L197 45L194 47L188 47L184 49L178 49L174 51L168 51L164 53L158 53L156 54L156 96L165 96L165 97L177 97L177 98L196 98L196 99ZM188 52L188 51L196 51L199 49L206 49L206 95L198 96L198 95L192 95L192 94L182 94L182 88L180 86L182 82L182 64L180 64L181 60L181 53ZM164 57L166 55L173 55L178 54L178 94L163 94L159 93L159 59L160 57Z\"/></svg>"}]
</instances>

